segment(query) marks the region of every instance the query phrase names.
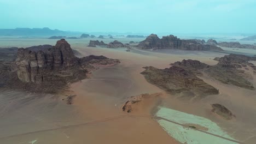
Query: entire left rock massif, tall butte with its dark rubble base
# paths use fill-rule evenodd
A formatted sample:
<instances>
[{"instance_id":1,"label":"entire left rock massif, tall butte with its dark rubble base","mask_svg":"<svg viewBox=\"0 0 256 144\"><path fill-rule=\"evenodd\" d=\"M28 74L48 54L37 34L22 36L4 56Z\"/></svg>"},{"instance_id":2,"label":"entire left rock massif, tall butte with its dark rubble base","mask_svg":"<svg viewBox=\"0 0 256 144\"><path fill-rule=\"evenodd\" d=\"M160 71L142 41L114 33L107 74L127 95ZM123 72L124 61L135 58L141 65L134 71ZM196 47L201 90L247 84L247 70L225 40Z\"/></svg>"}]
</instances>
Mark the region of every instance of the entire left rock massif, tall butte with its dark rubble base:
<instances>
[{"instance_id":1,"label":"entire left rock massif, tall butte with its dark rubble base","mask_svg":"<svg viewBox=\"0 0 256 144\"><path fill-rule=\"evenodd\" d=\"M86 73L95 67L120 63L117 59L103 56L79 59L74 56L71 46L65 39L57 41L51 48L48 48L49 45L47 48L44 46L21 48L18 50L16 61L1 62L1 87L56 93L65 89L67 83L85 79Z\"/></svg>"}]
</instances>

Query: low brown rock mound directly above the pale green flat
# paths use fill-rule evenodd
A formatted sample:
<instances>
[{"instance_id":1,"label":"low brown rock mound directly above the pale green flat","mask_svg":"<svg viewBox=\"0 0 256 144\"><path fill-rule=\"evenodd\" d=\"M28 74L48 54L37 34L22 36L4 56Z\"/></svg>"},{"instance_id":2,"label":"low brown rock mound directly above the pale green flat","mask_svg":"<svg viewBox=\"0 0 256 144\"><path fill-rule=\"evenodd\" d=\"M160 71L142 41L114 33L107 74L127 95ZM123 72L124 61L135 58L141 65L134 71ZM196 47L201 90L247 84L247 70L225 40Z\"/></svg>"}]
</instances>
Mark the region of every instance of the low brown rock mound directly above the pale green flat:
<instances>
[{"instance_id":1,"label":"low brown rock mound directly above the pale green flat","mask_svg":"<svg viewBox=\"0 0 256 144\"><path fill-rule=\"evenodd\" d=\"M180 95L185 98L202 98L207 95L218 94L219 91L208 85L193 73L181 67L157 69L144 67L143 74L149 83L152 83L165 91Z\"/></svg>"}]
</instances>

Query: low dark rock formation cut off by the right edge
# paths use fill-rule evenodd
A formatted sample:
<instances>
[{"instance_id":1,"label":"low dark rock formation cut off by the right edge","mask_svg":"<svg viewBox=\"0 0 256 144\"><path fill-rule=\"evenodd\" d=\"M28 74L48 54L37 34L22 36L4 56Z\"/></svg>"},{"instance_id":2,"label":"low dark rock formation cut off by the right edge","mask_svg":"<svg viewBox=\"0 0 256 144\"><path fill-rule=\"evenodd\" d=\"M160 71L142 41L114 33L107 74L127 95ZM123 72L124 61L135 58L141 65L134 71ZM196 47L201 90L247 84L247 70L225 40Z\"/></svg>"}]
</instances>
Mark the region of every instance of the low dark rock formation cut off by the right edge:
<instances>
[{"instance_id":1,"label":"low dark rock formation cut off by the right edge","mask_svg":"<svg viewBox=\"0 0 256 144\"><path fill-rule=\"evenodd\" d=\"M230 54L215 59L218 60L219 63L211 66L191 59L175 62L172 65L188 70L195 75L201 76L202 73L206 73L222 83L254 89L253 84L246 79L247 75L239 68L242 68L242 65L254 68L255 66L248 61L255 61L256 57Z\"/></svg>"}]
</instances>

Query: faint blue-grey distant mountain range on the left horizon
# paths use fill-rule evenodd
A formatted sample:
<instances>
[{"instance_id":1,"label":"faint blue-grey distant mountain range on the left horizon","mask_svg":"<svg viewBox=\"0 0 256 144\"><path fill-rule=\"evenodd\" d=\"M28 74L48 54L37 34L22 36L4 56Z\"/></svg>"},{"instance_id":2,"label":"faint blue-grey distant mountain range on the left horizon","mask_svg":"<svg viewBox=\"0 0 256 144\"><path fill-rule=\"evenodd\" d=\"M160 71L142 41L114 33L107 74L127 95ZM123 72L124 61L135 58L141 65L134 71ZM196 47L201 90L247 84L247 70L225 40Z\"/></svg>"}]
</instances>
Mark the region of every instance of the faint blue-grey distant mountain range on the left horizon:
<instances>
[{"instance_id":1,"label":"faint blue-grey distant mountain range on the left horizon","mask_svg":"<svg viewBox=\"0 0 256 144\"><path fill-rule=\"evenodd\" d=\"M80 35L82 32L60 31L59 29L45 28L15 28L0 29L1 36L51 36L51 35Z\"/></svg>"}]
</instances>

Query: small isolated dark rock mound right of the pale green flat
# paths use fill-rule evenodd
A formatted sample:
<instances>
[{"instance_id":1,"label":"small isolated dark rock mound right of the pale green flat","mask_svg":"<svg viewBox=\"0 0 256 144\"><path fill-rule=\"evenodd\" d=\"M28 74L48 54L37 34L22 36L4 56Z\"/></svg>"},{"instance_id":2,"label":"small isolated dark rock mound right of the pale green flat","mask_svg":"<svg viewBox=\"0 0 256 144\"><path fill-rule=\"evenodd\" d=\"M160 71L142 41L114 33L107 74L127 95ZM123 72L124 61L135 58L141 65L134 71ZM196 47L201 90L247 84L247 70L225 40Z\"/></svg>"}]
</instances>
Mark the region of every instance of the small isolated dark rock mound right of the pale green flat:
<instances>
[{"instance_id":1,"label":"small isolated dark rock mound right of the pale green flat","mask_svg":"<svg viewBox=\"0 0 256 144\"><path fill-rule=\"evenodd\" d=\"M236 117L229 109L227 109L225 106L221 104L212 104L212 112L216 113L220 117L230 120L234 117Z\"/></svg>"}]
</instances>

